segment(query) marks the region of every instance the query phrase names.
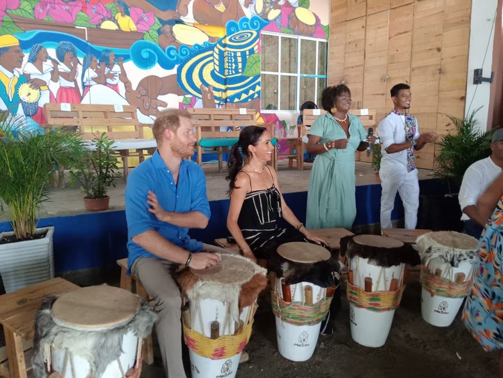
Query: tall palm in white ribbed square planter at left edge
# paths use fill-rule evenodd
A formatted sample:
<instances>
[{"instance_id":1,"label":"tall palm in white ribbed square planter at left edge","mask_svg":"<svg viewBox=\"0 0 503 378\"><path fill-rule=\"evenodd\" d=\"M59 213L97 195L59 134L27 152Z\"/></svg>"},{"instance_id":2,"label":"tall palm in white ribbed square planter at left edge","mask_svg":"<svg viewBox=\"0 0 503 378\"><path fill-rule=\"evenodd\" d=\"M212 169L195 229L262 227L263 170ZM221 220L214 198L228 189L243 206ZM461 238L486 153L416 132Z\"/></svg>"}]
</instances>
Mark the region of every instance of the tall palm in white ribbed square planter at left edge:
<instances>
[{"instance_id":1,"label":"tall palm in white ribbed square planter at left edge","mask_svg":"<svg viewBox=\"0 0 503 378\"><path fill-rule=\"evenodd\" d=\"M25 117L0 113L0 210L8 212L13 228L0 233L0 274L7 292L54 277L54 228L37 228L37 213L49 199L54 166L71 166L83 154L77 133L26 130Z\"/></svg>"}]
</instances>

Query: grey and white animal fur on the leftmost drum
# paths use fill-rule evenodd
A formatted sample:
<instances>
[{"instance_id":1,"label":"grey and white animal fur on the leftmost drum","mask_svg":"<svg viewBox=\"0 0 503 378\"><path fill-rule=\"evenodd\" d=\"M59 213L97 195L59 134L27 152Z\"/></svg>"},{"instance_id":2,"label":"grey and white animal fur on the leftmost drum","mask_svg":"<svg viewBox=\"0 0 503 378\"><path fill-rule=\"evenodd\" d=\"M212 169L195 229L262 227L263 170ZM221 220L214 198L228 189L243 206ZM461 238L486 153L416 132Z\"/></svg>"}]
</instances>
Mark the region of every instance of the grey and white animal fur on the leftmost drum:
<instances>
[{"instance_id":1,"label":"grey and white animal fur on the leftmost drum","mask_svg":"<svg viewBox=\"0 0 503 378\"><path fill-rule=\"evenodd\" d=\"M123 336L133 330L136 336L143 339L152 332L157 319L152 307L140 299L140 309L128 323L106 331L92 331L89 328L79 331L54 322L51 309L57 298L55 295L45 298L35 317L32 365L37 378L48 376L44 349L50 345L85 358L91 366L90 375L100 378L108 364L121 355Z\"/></svg>"}]
</instances>

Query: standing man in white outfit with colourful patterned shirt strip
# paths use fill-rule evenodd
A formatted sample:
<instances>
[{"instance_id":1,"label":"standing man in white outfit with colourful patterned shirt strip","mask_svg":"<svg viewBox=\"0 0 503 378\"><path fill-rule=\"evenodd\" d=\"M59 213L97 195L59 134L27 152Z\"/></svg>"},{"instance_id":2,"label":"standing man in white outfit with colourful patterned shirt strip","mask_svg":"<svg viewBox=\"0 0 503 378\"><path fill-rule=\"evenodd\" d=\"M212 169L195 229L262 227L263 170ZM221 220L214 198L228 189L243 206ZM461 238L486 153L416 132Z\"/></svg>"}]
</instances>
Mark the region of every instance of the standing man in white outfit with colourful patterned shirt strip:
<instances>
[{"instance_id":1,"label":"standing man in white outfit with colourful patterned shirt strip","mask_svg":"<svg viewBox=\"0 0 503 378\"><path fill-rule=\"evenodd\" d=\"M391 211L396 192L405 211L405 228L414 229L419 207L419 183L414 161L414 150L433 143L437 136L419 134L417 119L408 113L410 86L396 84L391 88L394 109L384 117L377 128L382 142L381 177L381 228L391 228Z\"/></svg>"}]
</instances>

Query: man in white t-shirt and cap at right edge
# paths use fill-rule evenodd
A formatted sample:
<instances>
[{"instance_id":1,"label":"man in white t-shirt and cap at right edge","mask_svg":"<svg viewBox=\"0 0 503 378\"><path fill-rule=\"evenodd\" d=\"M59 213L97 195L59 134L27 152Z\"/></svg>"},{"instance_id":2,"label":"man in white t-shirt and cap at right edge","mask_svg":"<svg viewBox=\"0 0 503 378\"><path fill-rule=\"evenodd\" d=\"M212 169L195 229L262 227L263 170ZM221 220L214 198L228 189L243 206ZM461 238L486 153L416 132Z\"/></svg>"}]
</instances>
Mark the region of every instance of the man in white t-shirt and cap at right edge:
<instances>
[{"instance_id":1,"label":"man in white t-shirt and cap at right edge","mask_svg":"<svg viewBox=\"0 0 503 378\"><path fill-rule=\"evenodd\" d=\"M479 238L487 219L478 217L477 200L501 173L503 167L503 129L492 134L490 156L478 160L468 167L459 190L459 206L465 221L465 233Z\"/></svg>"}]
</instances>

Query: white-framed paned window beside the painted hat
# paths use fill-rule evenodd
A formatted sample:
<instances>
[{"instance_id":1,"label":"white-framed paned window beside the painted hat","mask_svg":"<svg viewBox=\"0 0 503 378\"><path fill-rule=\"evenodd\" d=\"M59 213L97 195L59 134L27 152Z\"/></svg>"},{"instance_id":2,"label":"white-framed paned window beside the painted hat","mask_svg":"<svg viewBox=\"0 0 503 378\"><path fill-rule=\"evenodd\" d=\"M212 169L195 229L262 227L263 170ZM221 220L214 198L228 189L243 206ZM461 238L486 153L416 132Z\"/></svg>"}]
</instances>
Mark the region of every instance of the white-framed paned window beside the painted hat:
<instances>
[{"instance_id":1,"label":"white-framed paned window beside the painted hat","mask_svg":"<svg viewBox=\"0 0 503 378\"><path fill-rule=\"evenodd\" d=\"M326 86L325 39L263 32L262 111L298 111L306 101L318 106Z\"/></svg>"}]
</instances>

